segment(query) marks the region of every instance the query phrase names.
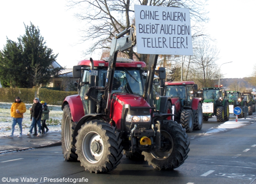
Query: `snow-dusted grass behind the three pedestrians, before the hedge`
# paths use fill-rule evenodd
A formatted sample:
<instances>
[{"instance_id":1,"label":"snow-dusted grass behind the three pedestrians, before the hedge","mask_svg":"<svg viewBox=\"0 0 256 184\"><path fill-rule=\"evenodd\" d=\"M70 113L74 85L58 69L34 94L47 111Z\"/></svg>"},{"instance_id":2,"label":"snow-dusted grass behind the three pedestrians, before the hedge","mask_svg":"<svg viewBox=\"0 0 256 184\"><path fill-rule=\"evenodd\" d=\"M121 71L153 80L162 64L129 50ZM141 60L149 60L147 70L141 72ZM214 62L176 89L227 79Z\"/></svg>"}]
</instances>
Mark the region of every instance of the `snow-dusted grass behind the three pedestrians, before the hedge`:
<instances>
[{"instance_id":1,"label":"snow-dusted grass behind the three pedestrians, before the hedge","mask_svg":"<svg viewBox=\"0 0 256 184\"><path fill-rule=\"evenodd\" d=\"M11 134L12 118L11 118L11 106L12 103L0 102L0 137L6 137ZM30 111L29 107L32 104L26 104L27 112L23 114L22 121L22 135L28 133L30 127ZM49 132L61 131L61 119L62 110L61 106L47 105L50 109L49 120L46 120L46 125L49 128ZM34 131L34 130L33 130ZM14 135L19 135L19 126L16 124L14 129Z\"/></svg>"}]
</instances>

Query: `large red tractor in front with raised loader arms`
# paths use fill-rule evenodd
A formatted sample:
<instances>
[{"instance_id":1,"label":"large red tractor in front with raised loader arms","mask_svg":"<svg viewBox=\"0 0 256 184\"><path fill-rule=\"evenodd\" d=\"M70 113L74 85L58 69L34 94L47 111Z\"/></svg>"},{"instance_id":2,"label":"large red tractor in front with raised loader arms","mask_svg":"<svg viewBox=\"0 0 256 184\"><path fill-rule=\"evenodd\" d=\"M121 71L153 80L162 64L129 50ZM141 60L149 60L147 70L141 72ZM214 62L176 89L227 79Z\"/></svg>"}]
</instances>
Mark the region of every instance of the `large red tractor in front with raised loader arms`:
<instances>
[{"instance_id":1,"label":"large red tractor in front with raised loader arms","mask_svg":"<svg viewBox=\"0 0 256 184\"><path fill-rule=\"evenodd\" d=\"M73 67L79 94L66 97L62 104L62 150L65 160L79 160L90 172L115 169L123 150L129 158L144 155L158 169L177 168L188 157L185 129L167 120L170 114L153 116L155 107L148 103L158 55L149 57L145 84L144 62L116 57L135 46L133 29L113 38L108 61L90 58ZM164 68L159 69L159 78L165 78Z\"/></svg>"}]
</instances>

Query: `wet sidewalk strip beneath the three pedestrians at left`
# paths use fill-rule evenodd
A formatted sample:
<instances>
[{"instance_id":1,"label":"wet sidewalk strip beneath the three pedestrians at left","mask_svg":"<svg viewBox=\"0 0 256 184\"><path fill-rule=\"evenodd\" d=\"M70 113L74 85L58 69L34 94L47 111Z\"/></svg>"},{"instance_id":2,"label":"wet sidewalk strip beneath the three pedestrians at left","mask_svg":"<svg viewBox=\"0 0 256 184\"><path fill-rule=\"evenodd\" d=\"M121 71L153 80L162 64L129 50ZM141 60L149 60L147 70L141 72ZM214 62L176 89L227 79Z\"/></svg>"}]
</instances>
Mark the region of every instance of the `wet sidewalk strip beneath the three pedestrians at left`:
<instances>
[{"instance_id":1,"label":"wet sidewalk strip beneath the three pedestrians at left","mask_svg":"<svg viewBox=\"0 0 256 184\"><path fill-rule=\"evenodd\" d=\"M61 132L49 132L43 136L14 136L0 138L0 154L9 153L12 151L22 151L32 148L44 148L61 145Z\"/></svg>"}]
</instances>

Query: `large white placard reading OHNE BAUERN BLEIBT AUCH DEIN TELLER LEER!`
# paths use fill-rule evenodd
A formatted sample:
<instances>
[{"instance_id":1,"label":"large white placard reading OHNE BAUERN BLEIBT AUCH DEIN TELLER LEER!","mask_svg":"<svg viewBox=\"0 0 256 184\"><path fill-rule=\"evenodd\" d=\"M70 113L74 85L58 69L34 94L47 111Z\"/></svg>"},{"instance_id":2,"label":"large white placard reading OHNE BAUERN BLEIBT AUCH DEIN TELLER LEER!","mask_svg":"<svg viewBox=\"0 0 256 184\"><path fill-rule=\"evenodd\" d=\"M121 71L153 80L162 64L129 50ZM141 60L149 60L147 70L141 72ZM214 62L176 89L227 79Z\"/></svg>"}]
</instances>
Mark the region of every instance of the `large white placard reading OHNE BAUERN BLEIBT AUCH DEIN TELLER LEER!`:
<instances>
[{"instance_id":1,"label":"large white placard reading OHNE BAUERN BLEIBT AUCH DEIN TELLER LEER!","mask_svg":"<svg viewBox=\"0 0 256 184\"><path fill-rule=\"evenodd\" d=\"M134 5L137 53L193 55L188 8Z\"/></svg>"}]
</instances>

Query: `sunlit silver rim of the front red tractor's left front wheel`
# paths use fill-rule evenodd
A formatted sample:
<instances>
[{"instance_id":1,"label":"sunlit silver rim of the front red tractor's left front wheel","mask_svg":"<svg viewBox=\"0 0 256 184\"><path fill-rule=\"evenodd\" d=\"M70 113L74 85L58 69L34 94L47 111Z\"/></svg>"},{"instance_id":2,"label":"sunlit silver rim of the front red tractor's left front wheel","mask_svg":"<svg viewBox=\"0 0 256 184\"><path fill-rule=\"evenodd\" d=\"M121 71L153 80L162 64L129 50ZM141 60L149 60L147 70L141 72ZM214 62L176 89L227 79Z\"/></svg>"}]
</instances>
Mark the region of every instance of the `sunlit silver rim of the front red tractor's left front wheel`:
<instances>
[{"instance_id":1,"label":"sunlit silver rim of the front red tractor's left front wheel","mask_svg":"<svg viewBox=\"0 0 256 184\"><path fill-rule=\"evenodd\" d=\"M84 158L90 163L97 163L103 156L104 144L96 132L88 132L82 142Z\"/></svg>"}]
</instances>

